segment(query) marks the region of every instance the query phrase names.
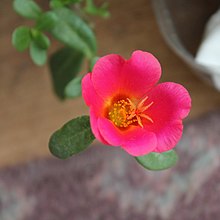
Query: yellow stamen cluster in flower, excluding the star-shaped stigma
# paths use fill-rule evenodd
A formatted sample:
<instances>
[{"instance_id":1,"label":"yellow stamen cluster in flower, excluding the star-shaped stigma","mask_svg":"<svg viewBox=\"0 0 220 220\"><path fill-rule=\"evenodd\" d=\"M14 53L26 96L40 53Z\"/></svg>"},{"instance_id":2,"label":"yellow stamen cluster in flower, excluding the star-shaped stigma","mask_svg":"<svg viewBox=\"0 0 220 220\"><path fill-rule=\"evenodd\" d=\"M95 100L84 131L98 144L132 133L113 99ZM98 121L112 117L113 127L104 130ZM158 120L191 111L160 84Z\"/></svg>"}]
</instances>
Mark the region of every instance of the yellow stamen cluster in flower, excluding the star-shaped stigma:
<instances>
[{"instance_id":1,"label":"yellow stamen cluster in flower, excluding the star-shaped stigma","mask_svg":"<svg viewBox=\"0 0 220 220\"><path fill-rule=\"evenodd\" d=\"M125 100L119 100L114 103L113 108L110 110L109 119L118 127L128 127L128 125L137 121L137 119L129 118L132 113L131 104ZM129 119L128 119L129 118Z\"/></svg>"}]
</instances>

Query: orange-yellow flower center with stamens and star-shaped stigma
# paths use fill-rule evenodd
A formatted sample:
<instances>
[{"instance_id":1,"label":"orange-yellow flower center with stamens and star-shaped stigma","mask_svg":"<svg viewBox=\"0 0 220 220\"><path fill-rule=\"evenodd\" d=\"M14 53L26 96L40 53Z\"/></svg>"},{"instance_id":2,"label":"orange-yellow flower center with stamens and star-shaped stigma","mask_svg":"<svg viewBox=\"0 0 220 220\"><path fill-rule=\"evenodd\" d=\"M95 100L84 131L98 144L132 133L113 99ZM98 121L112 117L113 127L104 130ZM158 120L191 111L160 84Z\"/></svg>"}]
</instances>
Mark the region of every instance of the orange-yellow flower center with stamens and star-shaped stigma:
<instances>
[{"instance_id":1,"label":"orange-yellow flower center with stamens and star-shaped stigma","mask_svg":"<svg viewBox=\"0 0 220 220\"><path fill-rule=\"evenodd\" d=\"M108 113L109 119L118 127L126 128L130 124L137 122L143 128L142 118L147 119L153 123L153 120L144 113L152 104L145 105L145 101L148 99L141 99L137 105L135 105L129 98L126 100L121 99L115 102Z\"/></svg>"}]
</instances>

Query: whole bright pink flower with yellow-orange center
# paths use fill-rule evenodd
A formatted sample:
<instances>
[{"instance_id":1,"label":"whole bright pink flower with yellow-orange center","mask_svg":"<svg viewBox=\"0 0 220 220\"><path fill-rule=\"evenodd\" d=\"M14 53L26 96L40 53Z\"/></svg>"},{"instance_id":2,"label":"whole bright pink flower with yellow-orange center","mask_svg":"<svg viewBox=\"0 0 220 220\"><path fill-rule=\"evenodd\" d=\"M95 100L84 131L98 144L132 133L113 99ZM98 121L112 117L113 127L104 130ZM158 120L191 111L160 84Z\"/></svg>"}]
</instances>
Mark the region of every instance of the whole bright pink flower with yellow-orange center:
<instances>
[{"instance_id":1,"label":"whole bright pink flower with yellow-orange center","mask_svg":"<svg viewBox=\"0 0 220 220\"><path fill-rule=\"evenodd\" d=\"M95 137L133 156L174 148L191 99L180 84L156 85L160 76L160 63L147 52L135 51L129 60L100 58L82 81Z\"/></svg>"}]
</instances>

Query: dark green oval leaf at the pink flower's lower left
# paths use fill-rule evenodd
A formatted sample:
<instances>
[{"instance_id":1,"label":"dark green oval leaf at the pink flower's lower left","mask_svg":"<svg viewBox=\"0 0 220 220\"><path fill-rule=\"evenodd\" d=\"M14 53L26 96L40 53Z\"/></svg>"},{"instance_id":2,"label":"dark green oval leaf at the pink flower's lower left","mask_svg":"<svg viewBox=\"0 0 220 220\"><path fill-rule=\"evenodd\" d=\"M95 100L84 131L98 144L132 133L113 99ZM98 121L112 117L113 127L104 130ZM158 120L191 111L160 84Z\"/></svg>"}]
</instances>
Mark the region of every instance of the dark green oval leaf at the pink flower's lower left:
<instances>
[{"instance_id":1,"label":"dark green oval leaf at the pink flower's lower left","mask_svg":"<svg viewBox=\"0 0 220 220\"><path fill-rule=\"evenodd\" d=\"M51 136L49 149L54 156L67 159L85 150L94 139L89 116L81 116L67 122Z\"/></svg>"}]
</instances>

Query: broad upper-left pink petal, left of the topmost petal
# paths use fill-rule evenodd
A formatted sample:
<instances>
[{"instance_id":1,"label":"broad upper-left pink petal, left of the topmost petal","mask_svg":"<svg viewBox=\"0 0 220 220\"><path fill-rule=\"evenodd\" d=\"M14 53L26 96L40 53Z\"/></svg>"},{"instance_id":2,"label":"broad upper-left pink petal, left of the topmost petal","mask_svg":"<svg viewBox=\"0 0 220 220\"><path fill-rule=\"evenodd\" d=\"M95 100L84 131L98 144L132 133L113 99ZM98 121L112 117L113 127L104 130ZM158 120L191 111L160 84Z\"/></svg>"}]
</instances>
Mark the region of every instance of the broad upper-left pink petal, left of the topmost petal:
<instances>
[{"instance_id":1,"label":"broad upper-left pink petal, left of the topmost petal","mask_svg":"<svg viewBox=\"0 0 220 220\"><path fill-rule=\"evenodd\" d=\"M125 60L116 54L100 58L92 71L92 82L96 92L105 100L120 93L121 69Z\"/></svg>"}]
</instances>

